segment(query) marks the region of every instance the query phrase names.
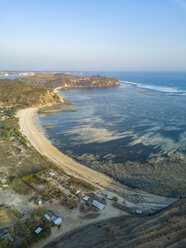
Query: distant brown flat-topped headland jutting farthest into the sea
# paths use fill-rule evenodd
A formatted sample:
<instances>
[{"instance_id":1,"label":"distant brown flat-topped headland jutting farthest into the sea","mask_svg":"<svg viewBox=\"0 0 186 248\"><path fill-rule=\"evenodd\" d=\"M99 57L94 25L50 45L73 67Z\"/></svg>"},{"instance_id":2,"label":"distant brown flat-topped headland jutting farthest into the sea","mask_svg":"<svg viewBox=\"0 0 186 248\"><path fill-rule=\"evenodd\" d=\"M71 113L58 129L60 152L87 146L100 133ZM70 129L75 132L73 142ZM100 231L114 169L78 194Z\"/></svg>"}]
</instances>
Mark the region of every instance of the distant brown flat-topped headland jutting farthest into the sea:
<instances>
[{"instance_id":1,"label":"distant brown flat-topped headland jutting farthest into the sea","mask_svg":"<svg viewBox=\"0 0 186 248\"><path fill-rule=\"evenodd\" d=\"M109 77L79 77L67 74L36 74L33 77L18 78L17 81L27 85L42 86L54 89L56 87L69 88L97 88L119 86L119 81Z\"/></svg>"}]
</instances>

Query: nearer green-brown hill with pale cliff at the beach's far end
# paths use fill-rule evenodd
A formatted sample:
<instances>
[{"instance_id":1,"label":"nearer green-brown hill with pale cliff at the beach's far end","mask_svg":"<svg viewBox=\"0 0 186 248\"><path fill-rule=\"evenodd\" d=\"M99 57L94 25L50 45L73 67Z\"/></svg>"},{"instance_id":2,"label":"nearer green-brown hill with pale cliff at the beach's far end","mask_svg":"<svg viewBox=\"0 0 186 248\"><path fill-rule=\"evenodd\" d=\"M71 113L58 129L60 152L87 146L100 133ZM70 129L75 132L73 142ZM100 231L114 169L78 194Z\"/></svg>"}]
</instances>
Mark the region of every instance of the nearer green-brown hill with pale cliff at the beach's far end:
<instances>
[{"instance_id":1,"label":"nearer green-brown hill with pale cliff at the beach's far end","mask_svg":"<svg viewBox=\"0 0 186 248\"><path fill-rule=\"evenodd\" d=\"M60 98L46 88L27 85L16 80L0 80L1 105L30 107L57 102L60 102Z\"/></svg>"}]
</instances>

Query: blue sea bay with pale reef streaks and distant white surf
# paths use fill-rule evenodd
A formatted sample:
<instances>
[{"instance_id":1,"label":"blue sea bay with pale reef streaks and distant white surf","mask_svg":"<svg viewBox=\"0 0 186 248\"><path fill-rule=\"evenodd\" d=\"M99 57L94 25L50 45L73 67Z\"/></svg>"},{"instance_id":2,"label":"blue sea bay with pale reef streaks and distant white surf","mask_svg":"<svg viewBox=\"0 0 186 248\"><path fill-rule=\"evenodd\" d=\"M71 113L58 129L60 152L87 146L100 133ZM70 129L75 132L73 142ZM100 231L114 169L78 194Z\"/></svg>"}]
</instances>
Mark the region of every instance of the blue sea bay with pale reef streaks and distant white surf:
<instances>
[{"instance_id":1,"label":"blue sea bay with pale reef streaks and distant white surf","mask_svg":"<svg viewBox=\"0 0 186 248\"><path fill-rule=\"evenodd\" d=\"M186 194L186 73L110 72L120 87L62 91L76 112L38 115L60 151L148 192Z\"/></svg>"}]
</instances>

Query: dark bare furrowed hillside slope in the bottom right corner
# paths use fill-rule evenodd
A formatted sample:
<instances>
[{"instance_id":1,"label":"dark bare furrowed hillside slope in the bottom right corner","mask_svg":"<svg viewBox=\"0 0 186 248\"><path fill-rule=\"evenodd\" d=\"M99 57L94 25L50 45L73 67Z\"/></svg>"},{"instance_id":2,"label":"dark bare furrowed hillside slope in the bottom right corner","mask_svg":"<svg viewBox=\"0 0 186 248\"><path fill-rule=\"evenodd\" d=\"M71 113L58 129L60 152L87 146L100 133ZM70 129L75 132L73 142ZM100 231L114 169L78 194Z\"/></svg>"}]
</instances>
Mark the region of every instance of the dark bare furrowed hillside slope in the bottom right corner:
<instances>
[{"instance_id":1,"label":"dark bare furrowed hillside slope in the bottom right corner","mask_svg":"<svg viewBox=\"0 0 186 248\"><path fill-rule=\"evenodd\" d=\"M91 224L44 248L183 248L186 244L185 217L186 198L183 198L154 216L124 216Z\"/></svg>"}]
</instances>

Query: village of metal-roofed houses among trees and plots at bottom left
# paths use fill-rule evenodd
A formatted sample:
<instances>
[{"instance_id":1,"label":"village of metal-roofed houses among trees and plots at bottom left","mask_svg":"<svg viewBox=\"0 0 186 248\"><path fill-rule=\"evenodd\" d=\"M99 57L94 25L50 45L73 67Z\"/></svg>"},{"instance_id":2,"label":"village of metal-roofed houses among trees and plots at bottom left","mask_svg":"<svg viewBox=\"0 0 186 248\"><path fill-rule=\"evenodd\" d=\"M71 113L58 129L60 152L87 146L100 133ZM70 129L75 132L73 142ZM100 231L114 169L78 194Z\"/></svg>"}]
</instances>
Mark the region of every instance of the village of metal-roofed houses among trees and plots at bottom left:
<instances>
[{"instance_id":1,"label":"village of metal-roofed houses among trees and plots at bottom left","mask_svg":"<svg viewBox=\"0 0 186 248\"><path fill-rule=\"evenodd\" d=\"M0 205L0 217L4 219L0 224L0 247L7 242L10 247L29 247L48 236L53 227L65 229L74 218L77 221L98 218L101 211L118 200L55 167L1 185L10 186L16 192L28 194L33 211L19 213L14 208ZM9 222L10 218L13 221Z\"/></svg>"}]
</instances>

